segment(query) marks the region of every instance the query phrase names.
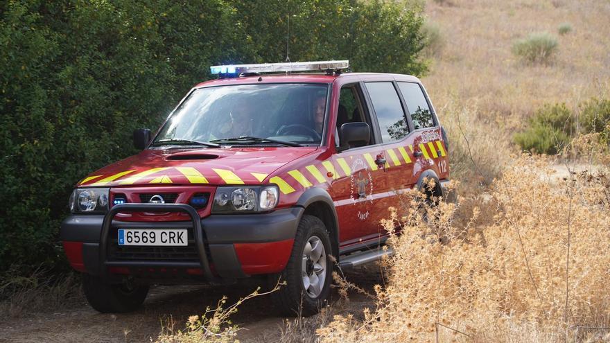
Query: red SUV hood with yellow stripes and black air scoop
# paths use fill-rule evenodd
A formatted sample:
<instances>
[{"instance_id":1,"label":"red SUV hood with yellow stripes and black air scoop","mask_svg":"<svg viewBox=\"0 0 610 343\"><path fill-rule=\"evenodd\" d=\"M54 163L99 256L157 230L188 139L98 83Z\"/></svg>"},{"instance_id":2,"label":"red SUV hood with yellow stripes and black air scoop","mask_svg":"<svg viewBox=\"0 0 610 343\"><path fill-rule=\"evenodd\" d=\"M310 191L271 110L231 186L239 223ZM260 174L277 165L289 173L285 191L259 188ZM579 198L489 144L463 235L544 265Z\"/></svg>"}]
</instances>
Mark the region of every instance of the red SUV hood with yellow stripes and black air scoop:
<instances>
[{"instance_id":1,"label":"red SUV hood with yellow stripes and black air scoop","mask_svg":"<svg viewBox=\"0 0 610 343\"><path fill-rule=\"evenodd\" d=\"M268 175L317 148L214 148L143 150L105 166L78 186L151 184L261 184Z\"/></svg>"}]
</instances>

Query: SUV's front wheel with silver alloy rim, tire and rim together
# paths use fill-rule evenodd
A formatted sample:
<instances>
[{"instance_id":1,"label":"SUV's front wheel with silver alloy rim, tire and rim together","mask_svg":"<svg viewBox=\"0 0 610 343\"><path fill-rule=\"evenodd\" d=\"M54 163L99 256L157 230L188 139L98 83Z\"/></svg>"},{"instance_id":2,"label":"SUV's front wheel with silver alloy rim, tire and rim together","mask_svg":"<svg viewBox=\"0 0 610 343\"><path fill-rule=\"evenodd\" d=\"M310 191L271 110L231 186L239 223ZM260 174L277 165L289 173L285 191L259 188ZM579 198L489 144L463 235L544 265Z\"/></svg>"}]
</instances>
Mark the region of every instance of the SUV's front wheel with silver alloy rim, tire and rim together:
<instances>
[{"instance_id":1,"label":"SUV's front wheel with silver alloy rim, tire and rim together","mask_svg":"<svg viewBox=\"0 0 610 343\"><path fill-rule=\"evenodd\" d=\"M314 315L330 295L333 264L331 240L324 222L304 215L299 222L293 252L280 278L286 281L273 293L275 303L286 315Z\"/></svg>"}]
</instances>

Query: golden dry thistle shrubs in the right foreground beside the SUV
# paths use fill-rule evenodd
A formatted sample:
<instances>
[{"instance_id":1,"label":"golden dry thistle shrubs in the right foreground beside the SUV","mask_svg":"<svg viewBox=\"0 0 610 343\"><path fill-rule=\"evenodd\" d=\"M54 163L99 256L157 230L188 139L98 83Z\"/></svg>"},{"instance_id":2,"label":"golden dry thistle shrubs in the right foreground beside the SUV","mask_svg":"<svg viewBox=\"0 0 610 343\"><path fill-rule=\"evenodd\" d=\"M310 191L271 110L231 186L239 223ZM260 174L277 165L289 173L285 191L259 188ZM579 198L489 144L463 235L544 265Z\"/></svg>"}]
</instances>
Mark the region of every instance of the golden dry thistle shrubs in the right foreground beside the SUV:
<instances>
[{"instance_id":1,"label":"golden dry thistle shrubs in the right foreground beside the SUV","mask_svg":"<svg viewBox=\"0 0 610 343\"><path fill-rule=\"evenodd\" d=\"M335 317L318 331L322 341L556 342L566 333L570 341L605 334L573 328L610 322L609 175L556 183L552 173L544 159L518 157L489 193L428 209L427 222L405 195L409 206L391 209L383 223L401 234L390 239L396 254L377 309L363 321Z\"/></svg>"}]
</instances>

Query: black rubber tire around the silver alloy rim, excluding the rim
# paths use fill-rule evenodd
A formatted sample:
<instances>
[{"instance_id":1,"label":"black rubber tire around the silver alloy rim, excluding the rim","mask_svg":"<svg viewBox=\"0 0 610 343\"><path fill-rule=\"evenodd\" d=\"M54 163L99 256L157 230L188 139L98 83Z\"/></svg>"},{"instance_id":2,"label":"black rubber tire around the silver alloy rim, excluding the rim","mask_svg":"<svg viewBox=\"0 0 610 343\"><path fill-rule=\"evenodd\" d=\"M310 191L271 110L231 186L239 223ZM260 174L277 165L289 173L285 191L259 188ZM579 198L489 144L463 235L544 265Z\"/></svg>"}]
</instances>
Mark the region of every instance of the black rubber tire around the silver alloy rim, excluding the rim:
<instances>
[{"instance_id":1,"label":"black rubber tire around the silver alloy rim, excluding the rim","mask_svg":"<svg viewBox=\"0 0 610 343\"><path fill-rule=\"evenodd\" d=\"M310 239L319 238L320 243L324 246L324 258L326 268L324 272L324 281L317 297L311 297L304 286L304 275L302 272L302 263L304 260L304 249ZM285 281L286 285L281 285L279 290L272 293L275 305L282 314L288 316L310 316L320 312L326 303L329 301L331 294L331 279L333 271L333 262L329 258L332 254L331 240L329 232L326 231L324 222L315 216L304 215L299 222L293 251L290 254L290 259L283 272L279 275L272 276L270 281L277 282L278 278Z\"/></svg>"}]
</instances>

